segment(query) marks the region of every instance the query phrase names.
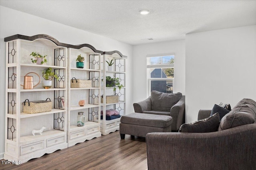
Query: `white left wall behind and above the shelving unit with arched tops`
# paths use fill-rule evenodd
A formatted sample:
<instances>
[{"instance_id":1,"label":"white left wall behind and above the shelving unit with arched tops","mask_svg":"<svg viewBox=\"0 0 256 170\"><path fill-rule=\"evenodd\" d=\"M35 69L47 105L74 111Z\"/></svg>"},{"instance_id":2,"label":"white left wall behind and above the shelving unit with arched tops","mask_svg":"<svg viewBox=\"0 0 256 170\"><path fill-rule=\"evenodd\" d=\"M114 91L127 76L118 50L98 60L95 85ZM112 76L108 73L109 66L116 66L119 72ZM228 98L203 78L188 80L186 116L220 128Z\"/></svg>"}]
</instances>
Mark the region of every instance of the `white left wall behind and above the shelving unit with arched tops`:
<instances>
[{"instance_id":1,"label":"white left wall behind and above the shelving unit with arched tops","mask_svg":"<svg viewBox=\"0 0 256 170\"><path fill-rule=\"evenodd\" d=\"M0 159L4 153L5 127L5 42L4 37L15 34L37 35L47 34L61 43L72 45L88 43L101 51L120 51L128 56L126 61L126 111L132 112L132 45L82 31L67 25L45 20L23 12L0 6ZM100 27L104 25L99 25Z\"/></svg>"}]
</instances>

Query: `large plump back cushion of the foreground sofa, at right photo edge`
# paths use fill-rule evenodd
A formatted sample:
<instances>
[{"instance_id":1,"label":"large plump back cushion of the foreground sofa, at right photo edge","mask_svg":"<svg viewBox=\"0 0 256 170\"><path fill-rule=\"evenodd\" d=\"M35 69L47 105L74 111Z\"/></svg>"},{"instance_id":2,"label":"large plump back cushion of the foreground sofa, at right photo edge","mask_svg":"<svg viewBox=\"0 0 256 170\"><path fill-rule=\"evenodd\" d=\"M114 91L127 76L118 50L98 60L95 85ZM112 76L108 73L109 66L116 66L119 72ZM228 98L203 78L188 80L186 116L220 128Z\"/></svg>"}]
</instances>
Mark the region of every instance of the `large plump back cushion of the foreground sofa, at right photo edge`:
<instances>
[{"instance_id":1,"label":"large plump back cushion of the foreground sofa, at right photo edge","mask_svg":"<svg viewBox=\"0 0 256 170\"><path fill-rule=\"evenodd\" d=\"M221 119L218 131L254 123L255 113L256 102L252 99L243 99Z\"/></svg>"}]
</instances>

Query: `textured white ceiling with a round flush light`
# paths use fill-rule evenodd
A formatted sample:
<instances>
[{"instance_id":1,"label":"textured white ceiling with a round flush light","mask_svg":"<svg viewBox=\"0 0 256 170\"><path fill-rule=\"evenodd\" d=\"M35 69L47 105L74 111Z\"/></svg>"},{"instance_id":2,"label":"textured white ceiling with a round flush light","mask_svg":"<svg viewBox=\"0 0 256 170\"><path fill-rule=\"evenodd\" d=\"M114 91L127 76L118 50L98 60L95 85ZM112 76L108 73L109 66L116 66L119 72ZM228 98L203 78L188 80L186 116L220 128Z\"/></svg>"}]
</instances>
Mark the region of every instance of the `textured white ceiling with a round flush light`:
<instances>
[{"instance_id":1,"label":"textured white ceiling with a round flush light","mask_svg":"<svg viewBox=\"0 0 256 170\"><path fill-rule=\"evenodd\" d=\"M0 5L131 45L256 25L256 0L0 0ZM138 11L150 10L146 16ZM153 38L153 40L141 40Z\"/></svg>"}]
</instances>

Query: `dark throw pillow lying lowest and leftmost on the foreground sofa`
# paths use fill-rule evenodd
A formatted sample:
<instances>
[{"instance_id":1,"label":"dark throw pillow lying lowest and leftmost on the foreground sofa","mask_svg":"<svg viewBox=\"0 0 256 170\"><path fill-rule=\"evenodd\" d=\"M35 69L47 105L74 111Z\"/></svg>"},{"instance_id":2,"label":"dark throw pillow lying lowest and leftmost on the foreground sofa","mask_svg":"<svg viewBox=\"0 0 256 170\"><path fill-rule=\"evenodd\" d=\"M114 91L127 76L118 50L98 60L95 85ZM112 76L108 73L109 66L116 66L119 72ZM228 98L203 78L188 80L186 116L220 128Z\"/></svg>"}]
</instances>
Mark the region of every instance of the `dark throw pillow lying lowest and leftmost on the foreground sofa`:
<instances>
[{"instance_id":1,"label":"dark throw pillow lying lowest and leftmost on the foreground sofa","mask_svg":"<svg viewBox=\"0 0 256 170\"><path fill-rule=\"evenodd\" d=\"M218 131L220 124L219 113L207 117L206 119L194 121L192 123L185 123L180 126L179 132L188 133L207 133Z\"/></svg>"}]
</instances>

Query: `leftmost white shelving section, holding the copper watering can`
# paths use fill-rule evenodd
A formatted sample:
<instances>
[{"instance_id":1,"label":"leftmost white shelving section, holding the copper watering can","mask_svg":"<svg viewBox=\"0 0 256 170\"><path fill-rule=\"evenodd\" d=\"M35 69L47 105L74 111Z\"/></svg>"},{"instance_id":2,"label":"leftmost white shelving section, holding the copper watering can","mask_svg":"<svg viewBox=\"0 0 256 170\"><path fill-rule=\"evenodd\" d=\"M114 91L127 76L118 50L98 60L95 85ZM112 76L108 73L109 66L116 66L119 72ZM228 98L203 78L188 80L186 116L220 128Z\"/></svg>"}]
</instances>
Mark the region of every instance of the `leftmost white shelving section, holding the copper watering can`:
<instances>
[{"instance_id":1,"label":"leftmost white shelving section, holding the copper watering can","mask_svg":"<svg viewBox=\"0 0 256 170\"><path fill-rule=\"evenodd\" d=\"M16 164L38 158L45 153L68 147L66 141L66 101L59 101L67 96L66 90L66 55L67 48L56 43L48 35L27 37L13 35L6 37L6 129L4 159ZM58 44L58 45L57 45ZM36 65L31 62L30 53L47 55L47 63ZM42 78L42 71L51 67L58 72L60 80L53 80L53 87L44 89L42 83L34 89L23 89L24 75L36 72ZM33 76L34 82L39 78ZM28 114L22 111L22 102L46 100L52 101L52 110ZM46 127L42 135L32 135L32 130Z\"/></svg>"}]
</instances>

